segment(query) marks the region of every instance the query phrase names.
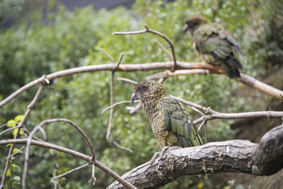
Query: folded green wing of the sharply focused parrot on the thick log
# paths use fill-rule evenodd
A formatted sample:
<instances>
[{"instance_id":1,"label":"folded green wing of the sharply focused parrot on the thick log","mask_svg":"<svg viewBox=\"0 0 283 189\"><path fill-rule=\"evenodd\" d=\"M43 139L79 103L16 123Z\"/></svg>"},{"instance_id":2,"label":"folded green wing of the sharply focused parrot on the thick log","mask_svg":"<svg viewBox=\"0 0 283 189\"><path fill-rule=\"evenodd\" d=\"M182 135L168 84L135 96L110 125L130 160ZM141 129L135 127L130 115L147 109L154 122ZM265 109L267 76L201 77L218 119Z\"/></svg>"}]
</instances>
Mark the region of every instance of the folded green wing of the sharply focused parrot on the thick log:
<instances>
[{"instance_id":1,"label":"folded green wing of the sharply focused parrot on the thick log","mask_svg":"<svg viewBox=\"0 0 283 189\"><path fill-rule=\"evenodd\" d=\"M172 130L185 147L203 144L188 111L178 100L166 95L162 99L162 106L165 111L165 130Z\"/></svg>"}]
</instances>

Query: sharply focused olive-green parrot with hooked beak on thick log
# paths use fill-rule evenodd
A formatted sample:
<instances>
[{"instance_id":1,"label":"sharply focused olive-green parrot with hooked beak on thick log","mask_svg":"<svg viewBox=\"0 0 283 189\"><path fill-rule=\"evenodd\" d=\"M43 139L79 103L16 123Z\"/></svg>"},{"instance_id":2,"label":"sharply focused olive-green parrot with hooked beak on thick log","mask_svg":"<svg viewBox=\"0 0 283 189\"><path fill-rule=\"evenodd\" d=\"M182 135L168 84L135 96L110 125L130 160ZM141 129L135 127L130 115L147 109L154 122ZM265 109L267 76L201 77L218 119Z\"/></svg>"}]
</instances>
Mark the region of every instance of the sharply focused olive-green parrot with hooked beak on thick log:
<instances>
[{"instance_id":1,"label":"sharply focused olive-green parrot with hooked beak on thick log","mask_svg":"<svg viewBox=\"0 0 283 189\"><path fill-rule=\"evenodd\" d=\"M155 152L150 165L158 155L162 159L164 152L169 147L203 145L198 129L190 119L186 108L177 99L168 95L161 83L153 80L140 81L134 86L131 98L133 106L135 106L134 100L136 99L141 100L153 134L162 149L161 152ZM207 174L203 177L207 178Z\"/></svg>"}]
</instances>

